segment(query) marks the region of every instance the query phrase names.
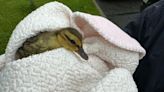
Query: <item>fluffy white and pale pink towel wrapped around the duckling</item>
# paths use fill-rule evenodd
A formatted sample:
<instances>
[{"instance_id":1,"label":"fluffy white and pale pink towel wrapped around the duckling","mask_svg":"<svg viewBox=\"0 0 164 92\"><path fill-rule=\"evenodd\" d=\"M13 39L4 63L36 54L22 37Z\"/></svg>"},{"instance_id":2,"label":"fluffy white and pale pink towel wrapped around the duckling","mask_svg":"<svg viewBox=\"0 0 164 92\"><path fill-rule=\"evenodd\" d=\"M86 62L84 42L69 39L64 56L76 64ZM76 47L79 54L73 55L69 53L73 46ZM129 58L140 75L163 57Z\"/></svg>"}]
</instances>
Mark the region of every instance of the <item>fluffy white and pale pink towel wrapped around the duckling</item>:
<instances>
[{"instance_id":1,"label":"fluffy white and pale pink towel wrapped around the duckling","mask_svg":"<svg viewBox=\"0 0 164 92\"><path fill-rule=\"evenodd\" d=\"M83 34L88 61L64 48L15 60L27 38L64 27ZM132 74L144 55L140 44L109 20L51 2L13 31L0 56L0 92L137 92Z\"/></svg>"}]
</instances>

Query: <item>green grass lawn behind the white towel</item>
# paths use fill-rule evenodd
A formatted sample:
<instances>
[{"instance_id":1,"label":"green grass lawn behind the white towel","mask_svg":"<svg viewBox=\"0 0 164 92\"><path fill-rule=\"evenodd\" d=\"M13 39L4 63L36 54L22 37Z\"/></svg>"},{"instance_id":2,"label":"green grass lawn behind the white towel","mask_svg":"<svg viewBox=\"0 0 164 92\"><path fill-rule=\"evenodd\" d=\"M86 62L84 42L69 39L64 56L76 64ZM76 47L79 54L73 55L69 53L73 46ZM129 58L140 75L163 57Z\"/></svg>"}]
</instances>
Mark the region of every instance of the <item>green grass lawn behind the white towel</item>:
<instances>
[{"instance_id":1,"label":"green grass lawn behind the white towel","mask_svg":"<svg viewBox=\"0 0 164 92\"><path fill-rule=\"evenodd\" d=\"M34 0L36 7L55 0ZM100 15L92 0L56 0L73 11ZM15 26L32 11L29 0L0 0L0 54L4 53Z\"/></svg>"}]
</instances>

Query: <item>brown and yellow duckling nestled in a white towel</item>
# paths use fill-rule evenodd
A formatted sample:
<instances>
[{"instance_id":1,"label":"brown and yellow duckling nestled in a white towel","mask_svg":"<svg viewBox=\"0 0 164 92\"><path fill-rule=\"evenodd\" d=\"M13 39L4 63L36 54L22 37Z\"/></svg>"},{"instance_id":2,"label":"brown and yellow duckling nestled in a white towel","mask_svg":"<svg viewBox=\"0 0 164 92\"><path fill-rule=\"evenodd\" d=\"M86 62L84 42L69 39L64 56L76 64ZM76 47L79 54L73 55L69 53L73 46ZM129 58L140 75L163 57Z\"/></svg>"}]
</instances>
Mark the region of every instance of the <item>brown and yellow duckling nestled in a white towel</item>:
<instances>
[{"instance_id":1,"label":"brown and yellow duckling nestled in a white towel","mask_svg":"<svg viewBox=\"0 0 164 92\"><path fill-rule=\"evenodd\" d=\"M16 51L15 58L21 59L62 47L76 52L83 59L88 60L88 55L84 52L82 46L82 35L74 28L63 28L51 32L45 31L28 38L22 47Z\"/></svg>"}]
</instances>

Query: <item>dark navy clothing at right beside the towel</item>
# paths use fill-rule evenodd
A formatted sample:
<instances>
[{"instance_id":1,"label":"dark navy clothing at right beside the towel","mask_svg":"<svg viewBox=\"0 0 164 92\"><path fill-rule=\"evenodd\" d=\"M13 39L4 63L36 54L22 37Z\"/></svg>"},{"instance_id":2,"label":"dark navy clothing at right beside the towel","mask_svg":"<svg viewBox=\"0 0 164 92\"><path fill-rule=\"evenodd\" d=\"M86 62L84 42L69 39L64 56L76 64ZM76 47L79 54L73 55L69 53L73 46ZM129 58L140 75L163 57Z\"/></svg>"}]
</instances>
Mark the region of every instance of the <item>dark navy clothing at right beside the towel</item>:
<instances>
[{"instance_id":1,"label":"dark navy clothing at right beside the towel","mask_svg":"<svg viewBox=\"0 0 164 92\"><path fill-rule=\"evenodd\" d=\"M142 11L125 31L147 52L133 76L139 92L164 92L164 0Z\"/></svg>"}]
</instances>

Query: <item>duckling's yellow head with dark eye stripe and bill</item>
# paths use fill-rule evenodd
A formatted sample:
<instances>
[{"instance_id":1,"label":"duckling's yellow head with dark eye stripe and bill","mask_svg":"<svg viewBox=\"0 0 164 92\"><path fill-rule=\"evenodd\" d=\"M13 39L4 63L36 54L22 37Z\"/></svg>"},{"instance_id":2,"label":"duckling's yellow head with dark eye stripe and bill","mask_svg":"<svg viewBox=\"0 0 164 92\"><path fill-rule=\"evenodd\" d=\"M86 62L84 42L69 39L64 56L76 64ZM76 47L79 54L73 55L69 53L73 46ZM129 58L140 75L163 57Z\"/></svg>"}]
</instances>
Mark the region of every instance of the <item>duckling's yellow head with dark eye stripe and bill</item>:
<instances>
[{"instance_id":1,"label":"duckling's yellow head with dark eye stripe and bill","mask_svg":"<svg viewBox=\"0 0 164 92\"><path fill-rule=\"evenodd\" d=\"M76 52L83 59L88 60L88 55L84 52L82 46L82 35L73 28L64 28L57 34L60 45L72 52Z\"/></svg>"}]
</instances>

